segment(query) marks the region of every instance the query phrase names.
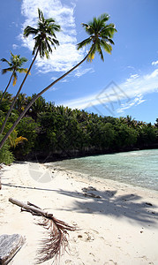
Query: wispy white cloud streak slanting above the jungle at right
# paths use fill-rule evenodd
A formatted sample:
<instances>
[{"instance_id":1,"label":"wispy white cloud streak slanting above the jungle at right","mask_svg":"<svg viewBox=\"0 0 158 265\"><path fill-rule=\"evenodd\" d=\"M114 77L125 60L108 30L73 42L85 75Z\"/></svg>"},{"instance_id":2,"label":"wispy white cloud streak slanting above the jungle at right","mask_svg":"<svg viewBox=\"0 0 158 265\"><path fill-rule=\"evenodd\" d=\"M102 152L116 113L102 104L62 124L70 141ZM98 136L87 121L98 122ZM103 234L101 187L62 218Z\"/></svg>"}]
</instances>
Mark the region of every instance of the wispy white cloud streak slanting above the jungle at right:
<instances>
[{"instance_id":1,"label":"wispy white cloud streak slanting above the jungle at right","mask_svg":"<svg viewBox=\"0 0 158 265\"><path fill-rule=\"evenodd\" d=\"M158 70L146 75L134 75L117 85L111 82L97 94L74 99L69 102L61 102L70 108L87 109L88 106L102 105L105 108L108 104L117 102L117 111L129 109L132 106L145 102L143 95L158 90ZM124 103L122 103L124 102Z\"/></svg>"}]
</instances>

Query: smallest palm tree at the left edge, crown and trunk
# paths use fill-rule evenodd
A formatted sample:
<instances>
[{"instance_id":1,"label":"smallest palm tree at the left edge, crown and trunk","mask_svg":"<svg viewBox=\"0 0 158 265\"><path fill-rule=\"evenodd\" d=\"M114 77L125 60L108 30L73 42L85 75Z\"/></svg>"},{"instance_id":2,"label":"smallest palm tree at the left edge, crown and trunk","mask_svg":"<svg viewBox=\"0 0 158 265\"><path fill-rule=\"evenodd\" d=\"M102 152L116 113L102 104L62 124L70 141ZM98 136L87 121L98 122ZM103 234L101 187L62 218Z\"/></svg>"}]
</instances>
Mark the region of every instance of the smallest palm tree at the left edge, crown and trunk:
<instances>
[{"instance_id":1,"label":"smallest palm tree at the left edge, crown and trunk","mask_svg":"<svg viewBox=\"0 0 158 265\"><path fill-rule=\"evenodd\" d=\"M13 55L11 53L11 62L9 62L8 60L6 60L5 58L1 59L2 62L7 63L9 65L8 68L4 68L2 70L2 73L6 73L6 72L12 72L11 74L11 78L9 79L8 85L6 86L4 93L1 97L0 103L2 102L4 95L8 89L8 87L11 84L11 79L13 79L13 87L16 85L17 79L18 79L18 75L17 72L27 72L27 68L22 68L21 66L26 63L27 59L26 57L21 57L19 55Z\"/></svg>"}]
</instances>

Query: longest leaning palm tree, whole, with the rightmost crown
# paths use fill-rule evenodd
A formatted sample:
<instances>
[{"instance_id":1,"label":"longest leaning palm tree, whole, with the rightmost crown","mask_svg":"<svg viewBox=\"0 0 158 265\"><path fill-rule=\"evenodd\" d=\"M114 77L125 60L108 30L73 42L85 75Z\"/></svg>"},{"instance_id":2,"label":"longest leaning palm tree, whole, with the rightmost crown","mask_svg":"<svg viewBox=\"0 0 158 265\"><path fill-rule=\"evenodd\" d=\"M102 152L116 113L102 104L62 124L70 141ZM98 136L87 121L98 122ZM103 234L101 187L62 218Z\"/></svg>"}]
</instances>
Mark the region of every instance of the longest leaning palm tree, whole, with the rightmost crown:
<instances>
[{"instance_id":1,"label":"longest leaning palm tree, whole, with the rightmost crown","mask_svg":"<svg viewBox=\"0 0 158 265\"><path fill-rule=\"evenodd\" d=\"M56 79L54 82L52 82L48 87L45 87L41 90L41 92L34 96L31 102L29 102L26 106L26 109L19 115L19 118L15 121L15 123L11 126L11 129L6 133L4 136L4 139L0 142L0 148L3 147L5 140L7 140L8 136L11 134L11 132L14 130L16 125L19 124L19 121L22 117L25 116L26 111L29 110L29 108L34 104L34 102L44 93L46 92L50 87L54 86L58 81L61 79L64 79L65 76L67 76L70 72L75 70L80 64L87 61L92 61L94 58L94 53L98 52L101 55L101 58L103 60L102 55L102 48L108 51L108 53L111 53L112 47L111 44L114 44L112 41L112 37L117 32L117 29L114 24L106 24L106 22L109 20L109 15L102 14L101 17L98 19L94 18L92 22L89 24L83 24L83 27L86 28L87 34L90 34L90 37L87 38L85 41L80 42L78 44L78 49L82 48L83 46L87 44L91 44L90 49L87 53L87 56L83 58L79 62L79 64L76 64L74 67L71 68L68 72L65 72L61 77Z\"/></svg>"}]
</instances>

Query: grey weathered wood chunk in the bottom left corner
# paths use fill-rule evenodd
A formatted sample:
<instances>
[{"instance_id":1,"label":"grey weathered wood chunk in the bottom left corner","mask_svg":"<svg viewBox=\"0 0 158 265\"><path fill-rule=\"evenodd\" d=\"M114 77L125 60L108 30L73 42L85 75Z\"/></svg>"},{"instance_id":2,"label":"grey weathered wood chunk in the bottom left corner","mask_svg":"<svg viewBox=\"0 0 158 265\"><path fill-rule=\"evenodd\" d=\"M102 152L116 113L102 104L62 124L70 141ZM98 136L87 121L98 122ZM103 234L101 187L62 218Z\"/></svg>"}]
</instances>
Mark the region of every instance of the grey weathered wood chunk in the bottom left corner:
<instances>
[{"instance_id":1,"label":"grey weathered wood chunk in the bottom left corner","mask_svg":"<svg viewBox=\"0 0 158 265\"><path fill-rule=\"evenodd\" d=\"M8 264L25 243L19 234L0 236L0 265Z\"/></svg>"}]
</instances>

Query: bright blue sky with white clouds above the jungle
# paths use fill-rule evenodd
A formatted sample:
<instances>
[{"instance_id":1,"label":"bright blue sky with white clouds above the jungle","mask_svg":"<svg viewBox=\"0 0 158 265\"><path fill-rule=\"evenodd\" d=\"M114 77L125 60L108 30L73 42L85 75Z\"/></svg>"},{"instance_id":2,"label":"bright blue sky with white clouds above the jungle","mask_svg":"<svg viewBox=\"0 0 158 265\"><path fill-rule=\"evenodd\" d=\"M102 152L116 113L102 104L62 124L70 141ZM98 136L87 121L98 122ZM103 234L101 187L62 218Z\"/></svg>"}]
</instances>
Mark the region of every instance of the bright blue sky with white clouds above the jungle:
<instances>
[{"instance_id":1,"label":"bright blue sky with white clouds above the jungle","mask_svg":"<svg viewBox=\"0 0 158 265\"><path fill-rule=\"evenodd\" d=\"M102 13L110 15L117 34L112 54L104 53L104 63L94 57L71 72L43 96L46 101L71 108L87 110L105 116L126 117L152 122L158 117L158 1L157 0L7 0L0 10L0 58L10 59L10 51L26 57L31 63L34 41L23 38L26 26L35 27L37 8L45 18L54 18L62 27L56 34L60 46L49 60L37 58L22 92L38 93L86 56L86 49L76 44L87 38L81 23L87 23ZM0 70L7 64L0 63ZM9 88L13 95L17 85ZM0 76L4 90L10 73Z\"/></svg>"}]
</instances>

